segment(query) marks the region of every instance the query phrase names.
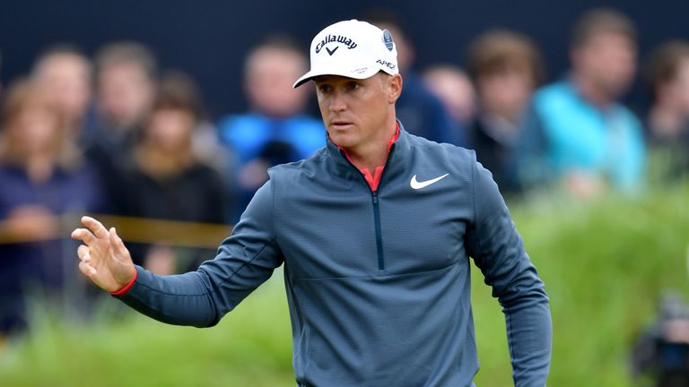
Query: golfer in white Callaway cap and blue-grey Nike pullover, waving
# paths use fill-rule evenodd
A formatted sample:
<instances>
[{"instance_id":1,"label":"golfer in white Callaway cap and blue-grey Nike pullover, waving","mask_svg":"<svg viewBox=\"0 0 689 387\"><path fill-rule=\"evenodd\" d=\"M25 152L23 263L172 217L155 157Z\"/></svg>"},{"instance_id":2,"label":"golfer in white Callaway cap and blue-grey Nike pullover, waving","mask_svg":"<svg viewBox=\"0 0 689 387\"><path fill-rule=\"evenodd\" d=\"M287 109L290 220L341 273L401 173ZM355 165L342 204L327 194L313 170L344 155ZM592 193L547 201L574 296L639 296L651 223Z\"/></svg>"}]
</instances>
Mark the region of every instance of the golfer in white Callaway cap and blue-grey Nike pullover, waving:
<instances>
[{"instance_id":1,"label":"golfer in white Callaway cap and blue-grey Nike pullover, waving","mask_svg":"<svg viewBox=\"0 0 689 387\"><path fill-rule=\"evenodd\" d=\"M84 217L81 271L144 314L203 327L284 263L299 385L470 386L470 255L507 316L515 384L545 385L548 298L490 173L396 121L387 30L338 22L310 55L294 86L315 81L327 146L270 170L214 260L154 276L114 228Z\"/></svg>"}]
</instances>

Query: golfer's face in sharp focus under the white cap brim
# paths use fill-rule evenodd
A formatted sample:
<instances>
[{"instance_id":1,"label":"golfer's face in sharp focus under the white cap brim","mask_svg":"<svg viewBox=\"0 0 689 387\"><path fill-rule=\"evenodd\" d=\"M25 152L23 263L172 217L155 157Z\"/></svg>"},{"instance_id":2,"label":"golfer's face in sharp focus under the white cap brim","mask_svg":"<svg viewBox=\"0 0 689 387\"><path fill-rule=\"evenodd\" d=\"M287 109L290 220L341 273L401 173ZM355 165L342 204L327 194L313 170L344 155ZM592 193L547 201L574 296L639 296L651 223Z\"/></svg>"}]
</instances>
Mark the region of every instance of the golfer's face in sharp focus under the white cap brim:
<instances>
[{"instance_id":1,"label":"golfer's face in sharp focus under the white cap brim","mask_svg":"<svg viewBox=\"0 0 689 387\"><path fill-rule=\"evenodd\" d=\"M402 90L402 78L377 73L357 80L339 75L315 79L318 107L330 139L348 150L389 140L389 115Z\"/></svg>"}]
</instances>

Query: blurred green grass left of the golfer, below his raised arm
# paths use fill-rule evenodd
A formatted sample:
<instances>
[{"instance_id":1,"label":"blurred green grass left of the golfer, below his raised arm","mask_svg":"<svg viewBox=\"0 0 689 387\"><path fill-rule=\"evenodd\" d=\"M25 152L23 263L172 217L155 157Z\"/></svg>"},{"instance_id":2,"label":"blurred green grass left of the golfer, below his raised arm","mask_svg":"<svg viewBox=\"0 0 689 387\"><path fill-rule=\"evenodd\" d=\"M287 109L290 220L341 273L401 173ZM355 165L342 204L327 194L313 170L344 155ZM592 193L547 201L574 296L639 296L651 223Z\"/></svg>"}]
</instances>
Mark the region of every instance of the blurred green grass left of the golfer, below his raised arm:
<instances>
[{"instance_id":1,"label":"blurred green grass left of the golfer, below his raised arm","mask_svg":"<svg viewBox=\"0 0 689 387\"><path fill-rule=\"evenodd\" d=\"M275 273L212 329L128 310L91 324L40 318L31 335L5 348L0 385L293 386L283 291Z\"/></svg>"}]
</instances>

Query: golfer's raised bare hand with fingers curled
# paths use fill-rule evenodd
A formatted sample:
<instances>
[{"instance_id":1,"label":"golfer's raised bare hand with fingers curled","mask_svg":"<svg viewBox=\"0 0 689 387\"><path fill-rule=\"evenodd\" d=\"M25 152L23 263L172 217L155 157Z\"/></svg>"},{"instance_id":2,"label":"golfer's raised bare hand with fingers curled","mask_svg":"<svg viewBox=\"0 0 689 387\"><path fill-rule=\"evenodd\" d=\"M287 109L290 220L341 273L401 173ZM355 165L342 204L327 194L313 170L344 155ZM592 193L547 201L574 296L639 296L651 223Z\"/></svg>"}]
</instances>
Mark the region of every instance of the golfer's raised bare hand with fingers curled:
<instances>
[{"instance_id":1,"label":"golfer's raised bare hand with fingers curled","mask_svg":"<svg viewBox=\"0 0 689 387\"><path fill-rule=\"evenodd\" d=\"M100 221L82 217L83 226L72 237L84 245L77 249L79 270L100 288L109 292L124 288L136 273L134 262L115 228L109 230Z\"/></svg>"}]
</instances>

